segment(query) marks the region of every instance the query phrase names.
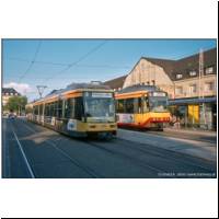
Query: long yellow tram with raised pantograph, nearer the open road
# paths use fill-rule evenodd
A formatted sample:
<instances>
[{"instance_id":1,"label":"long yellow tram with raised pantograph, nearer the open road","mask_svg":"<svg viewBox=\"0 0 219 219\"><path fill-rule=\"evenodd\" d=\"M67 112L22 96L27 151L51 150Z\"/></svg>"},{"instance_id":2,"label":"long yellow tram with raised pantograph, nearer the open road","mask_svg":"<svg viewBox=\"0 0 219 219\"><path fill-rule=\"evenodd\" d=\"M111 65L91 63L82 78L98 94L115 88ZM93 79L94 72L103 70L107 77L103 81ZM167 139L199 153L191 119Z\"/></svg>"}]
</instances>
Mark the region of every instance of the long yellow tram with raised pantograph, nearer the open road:
<instances>
[{"instance_id":1,"label":"long yellow tram with raised pantograph, nearer the open road","mask_svg":"<svg viewBox=\"0 0 219 219\"><path fill-rule=\"evenodd\" d=\"M116 135L114 91L95 83L72 83L26 105L27 120L73 137Z\"/></svg>"}]
</instances>

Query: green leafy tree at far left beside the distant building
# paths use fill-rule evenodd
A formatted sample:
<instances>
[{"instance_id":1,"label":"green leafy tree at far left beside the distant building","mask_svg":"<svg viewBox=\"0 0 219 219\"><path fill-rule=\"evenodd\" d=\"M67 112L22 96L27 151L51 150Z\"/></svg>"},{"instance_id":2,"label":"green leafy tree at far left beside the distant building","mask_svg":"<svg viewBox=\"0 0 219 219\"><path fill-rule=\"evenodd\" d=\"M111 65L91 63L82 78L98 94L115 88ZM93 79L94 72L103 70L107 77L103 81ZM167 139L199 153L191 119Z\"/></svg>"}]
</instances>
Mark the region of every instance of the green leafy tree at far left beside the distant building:
<instances>
[{"instance_id":1,"label":"green leafy tree at far left beside the distant building","mask_svg":"<svg viewBox=\"0 0 219 219\"><path fill-rule=\"evenodd\" d=\"M27 103L26 96L12 96L5 105L5 108L10 112L15 112L21 114L25 111L25 105Z\"/></svg>"}]
</instances>

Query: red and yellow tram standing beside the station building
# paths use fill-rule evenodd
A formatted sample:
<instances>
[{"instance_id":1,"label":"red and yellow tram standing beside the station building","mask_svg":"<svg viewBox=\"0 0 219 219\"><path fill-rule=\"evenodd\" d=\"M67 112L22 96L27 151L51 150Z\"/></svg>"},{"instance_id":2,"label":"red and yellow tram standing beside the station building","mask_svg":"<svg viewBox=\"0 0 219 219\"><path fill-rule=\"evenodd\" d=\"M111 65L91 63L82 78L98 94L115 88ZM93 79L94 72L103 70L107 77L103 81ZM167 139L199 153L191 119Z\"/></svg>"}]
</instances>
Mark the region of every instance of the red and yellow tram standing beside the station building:
<instances>
[{"instance_id":1,"label":"red and yellow tram standing beside the station building","mask_svg":"<svg viewBox=\"0 0 219 219\"><path fill-rule=\"evenodd\" d=\"M115 94L118 127L163 130L170 123L168 94L155 85L137 84Z\"/></svg>"}]
</instances>

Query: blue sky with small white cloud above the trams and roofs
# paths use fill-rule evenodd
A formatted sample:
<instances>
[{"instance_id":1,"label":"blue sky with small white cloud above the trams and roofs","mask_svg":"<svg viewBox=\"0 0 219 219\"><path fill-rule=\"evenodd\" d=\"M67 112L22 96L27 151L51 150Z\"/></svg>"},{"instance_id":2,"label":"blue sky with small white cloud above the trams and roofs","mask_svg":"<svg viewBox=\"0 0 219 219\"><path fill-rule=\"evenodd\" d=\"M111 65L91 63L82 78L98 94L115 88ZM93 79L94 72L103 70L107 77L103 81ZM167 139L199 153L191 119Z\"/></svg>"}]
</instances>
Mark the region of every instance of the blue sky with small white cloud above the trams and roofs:
<instances>
[{"instance_id":1,"label":"blue sky with small white cloud above the trams and roofs","mask_svg":"<svg viewBox=\"0 0 219 219\"><path fill-rule=\"evenodd\" d=\"M28 101L72 82L107 81L129 73L140 57L180 59L217 46L216 39L3 39L3 87Z\"/></svg>"}]
</instances>

